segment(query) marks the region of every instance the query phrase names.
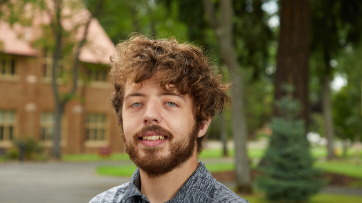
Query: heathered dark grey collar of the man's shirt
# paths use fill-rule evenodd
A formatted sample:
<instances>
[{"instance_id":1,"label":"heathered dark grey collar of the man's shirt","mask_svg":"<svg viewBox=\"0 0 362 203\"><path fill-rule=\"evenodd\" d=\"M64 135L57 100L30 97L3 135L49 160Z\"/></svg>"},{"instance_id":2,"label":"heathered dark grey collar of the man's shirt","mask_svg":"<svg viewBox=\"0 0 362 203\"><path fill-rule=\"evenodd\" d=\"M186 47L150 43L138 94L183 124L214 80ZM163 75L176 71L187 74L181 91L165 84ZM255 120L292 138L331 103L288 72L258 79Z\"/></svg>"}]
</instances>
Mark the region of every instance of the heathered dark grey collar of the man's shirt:
<instances>
[{"instance_id":1,"label":"heathered dark grey collar of the man's shirt","mask_svg":"<svg viewBox=\"0 0 362 203\"><path fill-rule=\"evenodd\" d=\"M206 169L204 162L199 162L199 166L194 173L192 173L181 189L167 203L182 203L183 200L189 199L189 197L194 198L193 202L206 202L215 182L216 180ZM122 198L124 202L127 202L127 200L132 199L135 196L148 202L146 196L142 195L140 192L140 183L140 174L139 169L137 168L127 186L126 193Z\"/></svg>"}]
</instances>

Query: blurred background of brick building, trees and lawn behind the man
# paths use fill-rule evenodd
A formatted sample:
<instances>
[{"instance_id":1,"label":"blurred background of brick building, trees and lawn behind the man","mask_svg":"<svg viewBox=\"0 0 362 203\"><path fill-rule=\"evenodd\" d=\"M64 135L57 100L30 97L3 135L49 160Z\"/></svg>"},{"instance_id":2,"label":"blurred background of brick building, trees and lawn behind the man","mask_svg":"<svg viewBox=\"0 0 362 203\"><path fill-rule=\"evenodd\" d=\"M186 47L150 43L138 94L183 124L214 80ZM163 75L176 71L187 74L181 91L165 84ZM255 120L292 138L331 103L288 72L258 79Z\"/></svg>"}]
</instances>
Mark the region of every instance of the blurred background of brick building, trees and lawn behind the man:
<instances>
[{"instance_id":1,"label":"blurred background of brick building, trees and lawn behind the man","mask_svg":"<svg viewBox=\"0 0 362 203\"><path fill-rule=\"evenodd\" d=\"M232 82L199 155L218 181L251 203L362 202L362 1L0 0L0 203L129 180L109 56L134 32L202 46Z\"/></svg>"}]
</instances>

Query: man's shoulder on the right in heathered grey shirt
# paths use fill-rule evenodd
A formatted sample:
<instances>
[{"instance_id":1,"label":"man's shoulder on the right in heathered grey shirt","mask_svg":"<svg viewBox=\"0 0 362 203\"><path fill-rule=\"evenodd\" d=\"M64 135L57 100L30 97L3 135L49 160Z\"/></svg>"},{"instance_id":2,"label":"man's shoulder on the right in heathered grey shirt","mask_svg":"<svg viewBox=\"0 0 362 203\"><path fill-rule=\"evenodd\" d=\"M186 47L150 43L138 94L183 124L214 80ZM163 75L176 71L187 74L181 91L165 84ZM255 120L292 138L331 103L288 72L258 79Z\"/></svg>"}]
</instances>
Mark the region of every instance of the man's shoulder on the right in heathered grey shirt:
<instances>
[{"instance_id":1,"label":"man's shoulder on the right in heathered grey shirt","mask_svg":"<svg viewBox=\"0 0 362 203\"><path fill-rule=\"evenodd\" d=\"M219 182L215 183L209 200L212 203L249 203Z\"/></svg>"}]
</instances>

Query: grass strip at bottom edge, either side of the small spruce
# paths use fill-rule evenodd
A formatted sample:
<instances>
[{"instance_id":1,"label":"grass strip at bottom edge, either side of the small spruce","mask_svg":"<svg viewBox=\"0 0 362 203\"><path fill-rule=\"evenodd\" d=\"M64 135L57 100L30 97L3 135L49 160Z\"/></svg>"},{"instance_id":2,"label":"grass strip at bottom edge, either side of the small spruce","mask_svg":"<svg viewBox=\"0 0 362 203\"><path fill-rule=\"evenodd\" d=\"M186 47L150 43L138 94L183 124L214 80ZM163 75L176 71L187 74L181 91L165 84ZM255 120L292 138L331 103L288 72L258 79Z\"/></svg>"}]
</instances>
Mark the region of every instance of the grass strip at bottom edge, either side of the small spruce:
<instances>
[{"instance_id":1,"label":"grass strip at bottom edge, either side of the small spruce","mask_svg":"<svg viewBox=\"0 0 362 203\"><path fill-rule=\"evenodd\" d=\"M241 195L250 203L269 203L261 194ZM362 203L362 196L317 194L308 203Z\"/></svg>"}]
</instances>

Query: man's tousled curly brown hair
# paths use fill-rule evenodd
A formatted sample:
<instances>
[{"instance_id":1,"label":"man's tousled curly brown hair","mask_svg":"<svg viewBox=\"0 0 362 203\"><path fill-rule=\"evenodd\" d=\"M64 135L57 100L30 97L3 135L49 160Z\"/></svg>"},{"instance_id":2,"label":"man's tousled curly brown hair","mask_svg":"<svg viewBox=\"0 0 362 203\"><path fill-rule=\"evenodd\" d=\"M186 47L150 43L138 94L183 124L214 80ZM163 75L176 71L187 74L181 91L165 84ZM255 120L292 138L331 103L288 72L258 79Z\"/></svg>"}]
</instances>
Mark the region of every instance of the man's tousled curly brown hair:
<instances>
[{"instance_id":1,"label":"man's tousled curly brown hair","mask_svg":"<svg viewBox=\"0 0 362 203\"><path fill-rule=\"evenodd\" d=\"M222 111L224 104L231 101L226 94L229 84L223 84L221 76L211 70L201 49L178 43L174 38L154 40L133 35L116 46L110 60L115 89L111 102L120 124L126 83L142 83L156 73L164 91L177 90L190 95L197 125L213 117L216 111ZM198 152L204 137L197 140Z\"/></svg>"}]
</instances>

